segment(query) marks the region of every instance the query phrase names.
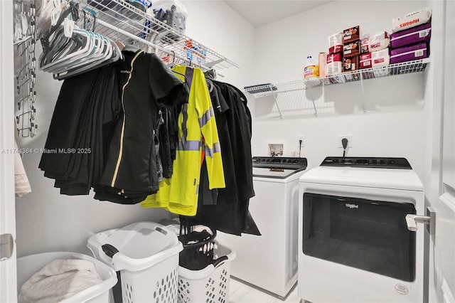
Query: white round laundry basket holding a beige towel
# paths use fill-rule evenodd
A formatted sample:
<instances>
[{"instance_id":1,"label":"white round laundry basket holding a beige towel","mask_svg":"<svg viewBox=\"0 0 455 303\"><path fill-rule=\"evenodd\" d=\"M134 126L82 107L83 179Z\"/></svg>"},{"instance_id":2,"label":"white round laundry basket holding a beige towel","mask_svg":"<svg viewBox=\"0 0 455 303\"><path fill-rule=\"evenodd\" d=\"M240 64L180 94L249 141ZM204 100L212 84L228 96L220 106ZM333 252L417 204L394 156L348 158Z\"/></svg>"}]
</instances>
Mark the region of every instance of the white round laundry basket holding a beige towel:
<instances>
[{"instance_id":1,"label":"white round laundry basket holding a beige towel","mask_svg":"<svg viewBox=\"0 0 455 303\"><path fill-rule=\"evenodd\" d=\"M56 259L79 259L87 260L95 264L95 268L102 282L93 285L87 289L78 292L71 297L66 298L63 302L109 302L109 289L117 283L117 275L115 271L96 260L94 257L82 255L75 252L44 252L36 255L28 255L17 259L17 289L21 290L21 286L36 272L40 271L45 265L48 265Z\"/></svg>"}]
</instances>

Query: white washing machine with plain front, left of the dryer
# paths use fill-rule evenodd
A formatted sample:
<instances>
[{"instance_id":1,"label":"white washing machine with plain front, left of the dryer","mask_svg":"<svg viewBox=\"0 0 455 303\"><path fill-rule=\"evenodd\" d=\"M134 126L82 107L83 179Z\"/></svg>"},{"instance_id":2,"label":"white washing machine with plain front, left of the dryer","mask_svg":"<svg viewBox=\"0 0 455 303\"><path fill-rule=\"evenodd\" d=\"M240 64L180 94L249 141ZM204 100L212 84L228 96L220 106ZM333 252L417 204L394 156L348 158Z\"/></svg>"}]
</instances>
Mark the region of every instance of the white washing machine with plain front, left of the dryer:
<instances>
[{"instance_id":1,"label":"white washing machine with plain front, left of the dryer","mask_svg":"<svg viewBox=\"0 0 455 303\"><path fill-rule=\"evenodd\" d=\"M261 235L217 239L236 252L231 276L275 297L287 297L297 280L299 178L306 158L255 156L250 213Z\"/></svg>"}]
</instances>

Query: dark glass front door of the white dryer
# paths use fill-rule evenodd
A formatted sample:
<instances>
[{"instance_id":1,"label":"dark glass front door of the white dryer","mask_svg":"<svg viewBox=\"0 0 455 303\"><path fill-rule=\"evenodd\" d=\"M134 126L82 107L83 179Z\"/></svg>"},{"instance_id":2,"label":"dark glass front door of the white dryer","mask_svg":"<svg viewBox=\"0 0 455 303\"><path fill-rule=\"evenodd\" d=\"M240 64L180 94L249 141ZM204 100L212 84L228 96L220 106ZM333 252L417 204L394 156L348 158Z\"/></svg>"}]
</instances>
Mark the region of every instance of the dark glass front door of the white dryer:
<instances>
[{"instance_id":1,"label":"dark glass front door of the white dryer","mask_svg":"<svg viewBox=\"0 0 455 303\"><path fill-rule=\"evenodd\" d=\"M304 193L303 252L412 282L416 235L403 218L414 204Z\"/></svg>"}]
</instances>

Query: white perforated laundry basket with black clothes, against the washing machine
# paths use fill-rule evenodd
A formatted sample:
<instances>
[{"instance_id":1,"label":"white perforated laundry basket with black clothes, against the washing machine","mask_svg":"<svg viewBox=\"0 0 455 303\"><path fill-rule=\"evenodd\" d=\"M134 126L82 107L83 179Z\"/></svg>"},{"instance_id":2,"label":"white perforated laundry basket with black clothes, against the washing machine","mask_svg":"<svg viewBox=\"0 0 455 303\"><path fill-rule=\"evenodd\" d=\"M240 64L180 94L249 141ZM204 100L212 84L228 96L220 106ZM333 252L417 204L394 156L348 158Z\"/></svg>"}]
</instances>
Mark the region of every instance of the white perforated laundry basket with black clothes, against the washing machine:
<instances>
[{"instance_id":1,"label":"white perforated laundry basket with black clothes, against the washing machine","mask_svg":"<svg viewBox=\"0 0 455 303\"><path fill-rule=\"evenodd\" d=\"M235 251L215 241L215 260L202 270L178 270L178 303L228 303L230 263Z\"/></svg>"}]
</instances>

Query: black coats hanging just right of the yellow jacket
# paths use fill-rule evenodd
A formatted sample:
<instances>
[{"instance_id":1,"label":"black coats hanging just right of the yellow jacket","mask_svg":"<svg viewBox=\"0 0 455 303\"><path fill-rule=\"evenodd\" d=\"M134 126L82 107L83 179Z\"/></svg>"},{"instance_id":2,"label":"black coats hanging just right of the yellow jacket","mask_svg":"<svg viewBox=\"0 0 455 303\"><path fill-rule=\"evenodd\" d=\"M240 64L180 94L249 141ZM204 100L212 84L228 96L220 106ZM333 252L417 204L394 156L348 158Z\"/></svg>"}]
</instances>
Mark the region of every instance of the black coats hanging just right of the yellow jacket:
<instances>
[{"instance_id":1,"label":"black coats hanging just right of the yellow jacket","mask_svg":"<svg viewBox=\"0 0 455 303\"><path fill-rule=\"evenodd\" d=\"M217 112L217 122L225 123L219 129L221 148L229 155L225 158L223 153L226 188L218 190L216 204L208 202L213 193L206 187L200 188L203 194L199 199L198 213L191 218L191 222L234 235L260 235L248 211L250 198L255 196L255 192L252 186L251 115L246 106L247 98L228 83L213 81L213 84L218 90L221 108L225 108Z\"/></svg>"}]
</instances>

